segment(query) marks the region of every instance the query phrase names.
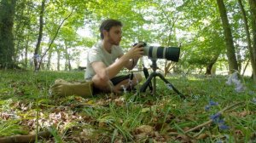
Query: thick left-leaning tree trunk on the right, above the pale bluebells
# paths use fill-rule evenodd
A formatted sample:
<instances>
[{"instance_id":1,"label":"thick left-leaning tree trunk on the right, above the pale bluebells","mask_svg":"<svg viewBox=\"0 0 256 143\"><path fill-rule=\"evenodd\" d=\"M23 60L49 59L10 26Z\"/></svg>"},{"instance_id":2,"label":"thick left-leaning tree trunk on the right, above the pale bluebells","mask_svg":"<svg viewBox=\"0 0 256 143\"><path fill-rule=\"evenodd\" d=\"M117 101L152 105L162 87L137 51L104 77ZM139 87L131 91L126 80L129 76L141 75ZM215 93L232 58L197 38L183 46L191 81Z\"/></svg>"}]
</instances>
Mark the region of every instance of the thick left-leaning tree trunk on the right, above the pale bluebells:
<instances>
[{"instance_id":1,"label":"thick left-leaning tree trunk on the right, above the pale bluebells","mask_svg":"<svg viewBox=\"0 0 256 143\"><path fill-rule=\"evenodd\" d=\"M222 20L223 28L224 28L224 37L226 42L227 56L229 61L229 72L233 73L238 71L238 65L236 60L236 51L234 47L233 37L230 29L230 23L228 20L226 8L223 0L217 0L218 10Z\"/></svg>"}]
</instances>

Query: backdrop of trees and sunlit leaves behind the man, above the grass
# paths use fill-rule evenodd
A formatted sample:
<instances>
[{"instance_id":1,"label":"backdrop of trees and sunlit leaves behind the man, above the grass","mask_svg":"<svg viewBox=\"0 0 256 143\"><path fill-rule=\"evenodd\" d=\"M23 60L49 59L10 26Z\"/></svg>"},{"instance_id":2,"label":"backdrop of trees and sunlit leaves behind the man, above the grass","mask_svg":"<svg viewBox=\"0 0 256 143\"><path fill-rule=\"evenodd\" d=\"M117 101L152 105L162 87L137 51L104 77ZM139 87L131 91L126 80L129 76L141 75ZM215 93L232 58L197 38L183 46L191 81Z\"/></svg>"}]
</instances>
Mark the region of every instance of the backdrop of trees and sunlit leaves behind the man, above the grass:
<instances>
[{"instance_id":1,"label":"backdrop of trees and sunlit leaves behind the man, above the grass","mask_svg":"<svg viewBox=\"0 0 256 143\"><path fill-rule=\"evenodd\" d=\"M71 61L84 63L79 54L99 39L101 21L112 18L125 25L124 48L138 41L180 45L177 72L210 74L215 65L249 71L255 81L255 13L253 0L1 0L0 67L71 71L77 68ZM60 60L65 60L62 69ZM166 61L163 70L169 72L171 65Z\"/></svg>"}]
</instances>

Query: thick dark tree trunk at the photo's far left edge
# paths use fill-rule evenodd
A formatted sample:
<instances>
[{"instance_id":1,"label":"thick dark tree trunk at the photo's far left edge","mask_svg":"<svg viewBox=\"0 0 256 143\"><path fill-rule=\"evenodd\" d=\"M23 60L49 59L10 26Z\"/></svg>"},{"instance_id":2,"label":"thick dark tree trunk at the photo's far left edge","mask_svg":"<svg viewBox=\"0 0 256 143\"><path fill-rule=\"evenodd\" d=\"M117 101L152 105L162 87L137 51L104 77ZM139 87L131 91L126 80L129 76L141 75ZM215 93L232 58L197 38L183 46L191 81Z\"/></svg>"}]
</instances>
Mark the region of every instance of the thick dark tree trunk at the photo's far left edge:
<instances>
[{"instance_id":1,"label":"thick dark tree trunk at the photo's far left edge","mask_svg":"<svg viewBox=\"0 0 256 143\"><path fill-rule=\"evenodd\" d=\"M16 0L0 1L0 68L13 68L15 43L13 35Z\"/></svg>"}]
</instances>

